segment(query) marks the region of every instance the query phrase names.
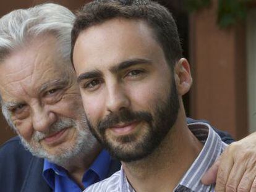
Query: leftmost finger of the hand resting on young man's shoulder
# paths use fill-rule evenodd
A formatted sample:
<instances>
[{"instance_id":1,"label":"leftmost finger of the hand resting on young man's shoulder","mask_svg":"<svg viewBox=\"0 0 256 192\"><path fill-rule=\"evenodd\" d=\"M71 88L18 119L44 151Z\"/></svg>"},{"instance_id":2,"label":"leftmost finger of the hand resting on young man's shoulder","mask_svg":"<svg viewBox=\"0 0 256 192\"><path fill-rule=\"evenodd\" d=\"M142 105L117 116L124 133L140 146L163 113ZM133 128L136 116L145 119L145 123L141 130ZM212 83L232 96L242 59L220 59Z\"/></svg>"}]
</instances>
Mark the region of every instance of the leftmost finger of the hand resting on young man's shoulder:
<instances>
[{"instance_id":1,"label":"leftmost finger of the hand resting on young man's shoulder","mask_svg":"<svg viewBox=\"0 0 256 192\"><path fill-rule=\"evenodd\" d=\"M203 175L201 182L204 185L210 185L216 182L216 177L218 173L218 168L220 165L220 157L215 161L215 163L210 167L207 172Z\"/></svg>"}]
</instances>

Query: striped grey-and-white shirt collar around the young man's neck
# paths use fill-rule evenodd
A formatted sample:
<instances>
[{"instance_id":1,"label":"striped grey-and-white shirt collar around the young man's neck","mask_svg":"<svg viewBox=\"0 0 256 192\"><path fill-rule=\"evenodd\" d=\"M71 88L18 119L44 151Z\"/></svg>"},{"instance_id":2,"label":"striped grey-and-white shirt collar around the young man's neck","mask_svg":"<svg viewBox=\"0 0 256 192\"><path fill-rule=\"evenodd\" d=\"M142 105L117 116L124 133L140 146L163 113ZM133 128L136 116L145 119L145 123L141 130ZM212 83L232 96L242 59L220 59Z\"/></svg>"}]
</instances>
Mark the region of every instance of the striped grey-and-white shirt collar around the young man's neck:
<instances>
[{"instance_id":1,"label":"striped grey-and-white shirt collar around the young man's neck","mask_svg":"<svg viewBox=\"0 0 256 192\"><path fill-rule=\"evenodd\" d=\"M221 152L223 152L226 144L221 141L220 136L218 136L208 123L189 123L188 127L197 139L204 143L204 146L174 191L211 191L214 186L203 185L200 180L203 173L206 172L213 162L216 161L217 157L220 156ZM120 175L119 187L121 191L134 192L134 189L127 181L122 167Z\"/></svg>"}]
</instances>

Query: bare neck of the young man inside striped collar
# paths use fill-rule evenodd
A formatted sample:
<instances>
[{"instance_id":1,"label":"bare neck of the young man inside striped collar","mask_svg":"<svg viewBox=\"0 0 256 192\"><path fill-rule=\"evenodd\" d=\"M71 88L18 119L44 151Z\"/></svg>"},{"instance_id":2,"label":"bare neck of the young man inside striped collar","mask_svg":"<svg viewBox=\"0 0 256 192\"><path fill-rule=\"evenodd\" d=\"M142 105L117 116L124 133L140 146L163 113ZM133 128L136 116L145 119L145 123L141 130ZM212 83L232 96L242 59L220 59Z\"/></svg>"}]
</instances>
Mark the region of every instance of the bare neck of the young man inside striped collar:
<instances>
[{"instance_id":1,"label":"bare neck of the young man inside striped collar","mask_svg":"<svg viewBox=\"0 0 256 192\"><path fill-rule=\"evenodd\" d=\"M173 128L150 156L135 162L122 162L122 165L135 191L172 191L202 147L187 128L186 115L181 109Z\"/></svg>"}]
</instances>

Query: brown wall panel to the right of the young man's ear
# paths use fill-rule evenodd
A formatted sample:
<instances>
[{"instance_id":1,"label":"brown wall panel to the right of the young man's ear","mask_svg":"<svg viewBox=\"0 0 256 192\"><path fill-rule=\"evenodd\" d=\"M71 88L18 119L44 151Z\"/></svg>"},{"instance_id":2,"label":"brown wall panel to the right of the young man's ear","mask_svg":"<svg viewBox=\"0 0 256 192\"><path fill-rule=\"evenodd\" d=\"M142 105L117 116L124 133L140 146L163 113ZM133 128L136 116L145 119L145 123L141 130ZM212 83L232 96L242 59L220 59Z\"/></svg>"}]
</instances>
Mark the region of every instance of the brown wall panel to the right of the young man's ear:
<instances>
[{"instance_id":1,"label":"brown wall panel to the right of the young man's ear","mask_svg":"<svg viewBox=\"0 0 256 192\"><path fill-rule=\"evenodd\" d=\"M217 2L190 17L191 114L242 138L248 133L245 26L220 29Z\"/></svg>"}]
</instances>

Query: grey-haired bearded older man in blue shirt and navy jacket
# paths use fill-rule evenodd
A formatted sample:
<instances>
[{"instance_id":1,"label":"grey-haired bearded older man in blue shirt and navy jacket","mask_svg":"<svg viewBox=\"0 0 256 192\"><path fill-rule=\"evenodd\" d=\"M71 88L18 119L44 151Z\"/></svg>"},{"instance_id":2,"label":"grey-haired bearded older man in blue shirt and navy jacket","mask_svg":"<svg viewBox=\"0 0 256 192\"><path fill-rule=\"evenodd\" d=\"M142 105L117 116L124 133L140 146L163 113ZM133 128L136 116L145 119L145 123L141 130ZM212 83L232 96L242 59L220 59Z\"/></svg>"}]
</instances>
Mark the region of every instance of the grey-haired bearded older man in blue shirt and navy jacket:
<instances>
[{"instance_id":1,"label":"grey-haired bearded older man in blue shirt and navy jacket","mask_svg":"<svg viewBox=\"0 0 256 192\"><path fill-rule=\"evenodd\" d=\"M74 19L56 4L15 10L0 19L2 112L19 135L0 149L1 191L81 191L120 169L87 128L70 62Z\"/></svg>"}]
</instances>

